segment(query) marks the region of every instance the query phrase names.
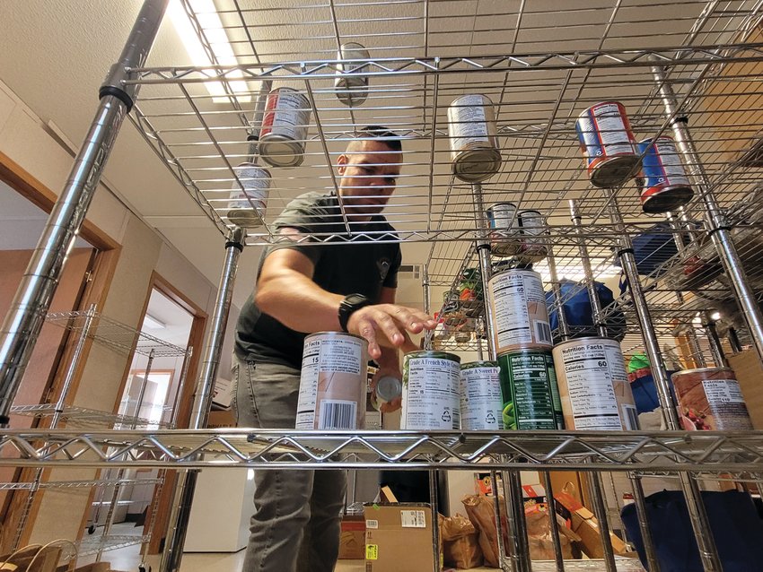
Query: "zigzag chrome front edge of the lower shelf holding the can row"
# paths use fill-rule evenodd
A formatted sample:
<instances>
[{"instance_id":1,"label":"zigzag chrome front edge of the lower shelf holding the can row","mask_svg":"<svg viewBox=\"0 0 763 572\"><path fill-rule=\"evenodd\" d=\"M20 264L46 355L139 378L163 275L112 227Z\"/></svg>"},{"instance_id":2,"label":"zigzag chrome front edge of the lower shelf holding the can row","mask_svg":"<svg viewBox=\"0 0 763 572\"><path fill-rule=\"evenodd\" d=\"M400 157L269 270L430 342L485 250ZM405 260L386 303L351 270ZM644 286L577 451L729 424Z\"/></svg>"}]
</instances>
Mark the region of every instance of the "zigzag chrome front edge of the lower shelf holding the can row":
<instances>
[{"instance_id":1,"label":"zigzag chrome front edge of the lower shelf holding the can row","mask_svg":"<svg viewBox=\"0 0 763 572\"><path fill-rule=\"evenodd\" d=\"M193 468L559 469L759 472L763 433L311 432L276 429L7 431L0 465ZM363 459L358 461L358 459Z\"/></svg>"}]
</instances>

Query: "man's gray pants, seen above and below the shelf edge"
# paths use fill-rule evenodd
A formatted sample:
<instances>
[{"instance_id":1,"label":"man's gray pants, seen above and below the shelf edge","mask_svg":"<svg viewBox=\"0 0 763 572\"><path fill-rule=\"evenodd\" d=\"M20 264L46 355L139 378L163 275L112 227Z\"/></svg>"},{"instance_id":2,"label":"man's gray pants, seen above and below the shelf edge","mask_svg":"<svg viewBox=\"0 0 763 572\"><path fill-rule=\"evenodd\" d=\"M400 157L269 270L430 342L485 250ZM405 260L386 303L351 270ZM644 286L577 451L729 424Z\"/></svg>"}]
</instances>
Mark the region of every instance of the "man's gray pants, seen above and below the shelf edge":
<instances>
[{"instance_id":1,"label":"man's gray pants, seen above and below the shelf edge","mask_svg":"<svg viewBox=\"0 0 763 572\"><path fill-rule=\"evenodd\" d=\"M300 372L233 355L238 427L294 429ZM242 572L330 572L337 563L346 472L254 472L254 507Z\"/></svg>"}]
</instances>

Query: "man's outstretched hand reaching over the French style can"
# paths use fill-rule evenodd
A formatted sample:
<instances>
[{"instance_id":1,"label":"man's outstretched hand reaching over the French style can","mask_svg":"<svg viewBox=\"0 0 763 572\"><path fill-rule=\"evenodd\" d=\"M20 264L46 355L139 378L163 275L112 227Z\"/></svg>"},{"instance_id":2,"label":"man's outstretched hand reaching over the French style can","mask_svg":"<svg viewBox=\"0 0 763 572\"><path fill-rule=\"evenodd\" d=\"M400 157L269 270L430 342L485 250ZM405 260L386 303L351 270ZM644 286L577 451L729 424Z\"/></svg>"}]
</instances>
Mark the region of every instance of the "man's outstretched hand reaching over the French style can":
<instances>
[{"instance_id":1,"label":"man's outstretched hand reaching over the French style can","mask_svg":"<svg viewBox=\"0 0 763 572\"><path fill-rule=\"evenodd\" d=\"M374 304L352 313L347 321L347 331L368 341L368 354L377 360L382 355L380 346L399 348L403 353L417 351L418 346L408 334L434 330L437 323L416 308L397 304Z\"/></svg>"}]
</instances>

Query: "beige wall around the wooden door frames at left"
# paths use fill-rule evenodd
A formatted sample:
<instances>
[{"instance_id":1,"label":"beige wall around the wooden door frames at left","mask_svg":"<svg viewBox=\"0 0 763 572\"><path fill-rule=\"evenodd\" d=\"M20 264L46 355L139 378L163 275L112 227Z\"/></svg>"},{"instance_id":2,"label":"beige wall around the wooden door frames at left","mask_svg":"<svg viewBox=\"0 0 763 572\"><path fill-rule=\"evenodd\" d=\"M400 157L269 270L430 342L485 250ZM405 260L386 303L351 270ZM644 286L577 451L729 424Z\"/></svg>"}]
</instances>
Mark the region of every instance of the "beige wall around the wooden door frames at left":
<instances>
[{"instance_id":1,"label":"beige wall around the wooden door frames at left","mask_svg":"<svg viewBox=\"0 0 763 572\"><path fill-rule=\"evenodd\" d=\"M93 110L95 103L93 103ZM123 126L130 129L131 126ZM66 181L72 158L44 129L44 124L31 109L0 82L0 152L19 163L55 193ZM101 309L127 325L137 327L141 320L150 279L155 271L211 316L216 284L212 284L187 259L165 243L161 235L148 227L136 214L99 186L88 219L121 245L114 279L105 305ZM223 239L220 264L223 264ZM237 314L235 309L233 315ZM224 353L230 353L228 337ZM197 351L201 351L198 349ZM75 405L101 411L112 411L127 368L126 354L93 344L83 377L75 395ZM229 361L229 360L228 360ZM222 371L223 375L224 370ZM51 472L50 480L90 479L89 470ZM87 509L88 490L47 490L41 497L39 516L31 530L31 542L48 542L57 538L76 539L81 516Z\"/></svg>"}]
</instances>

